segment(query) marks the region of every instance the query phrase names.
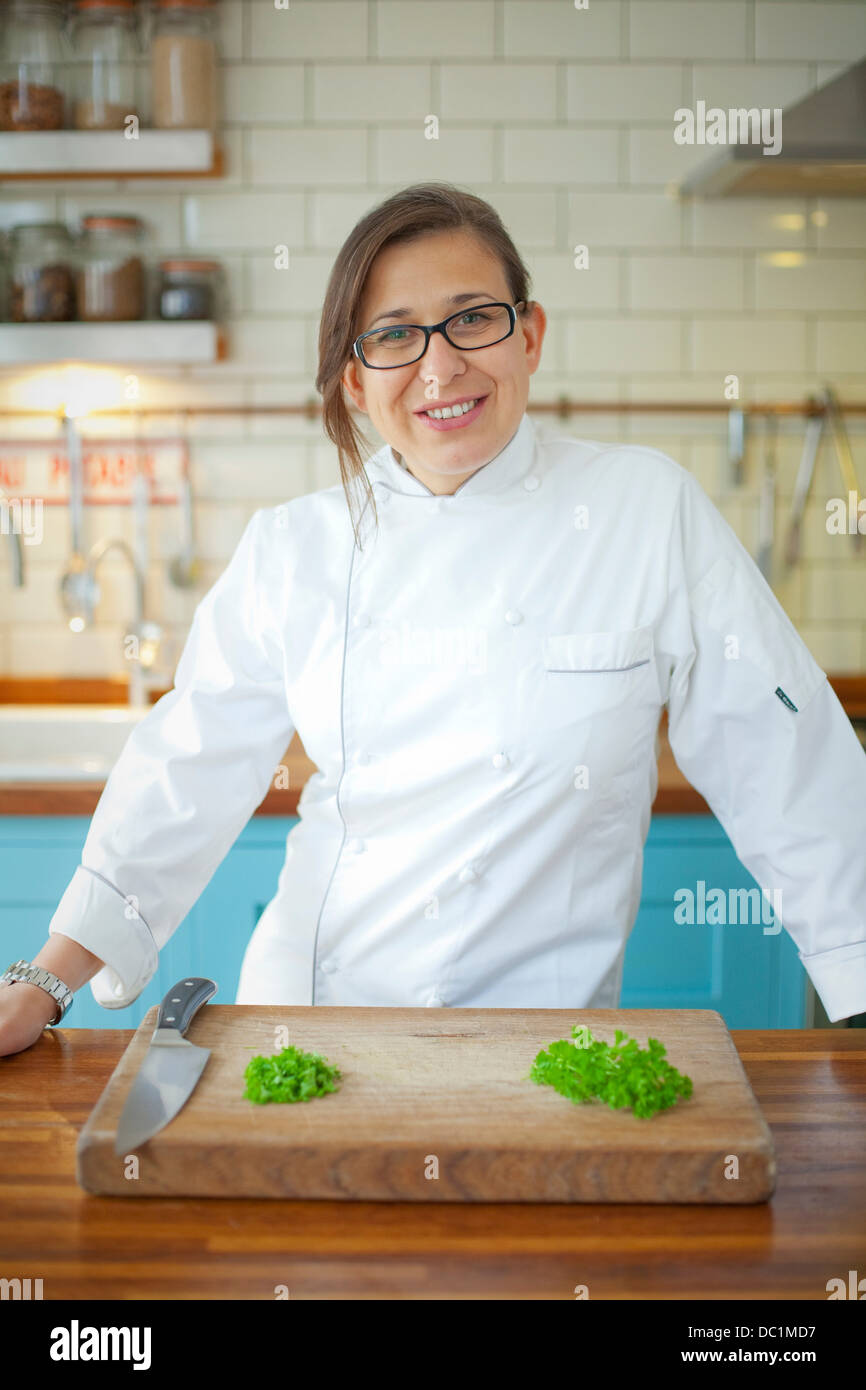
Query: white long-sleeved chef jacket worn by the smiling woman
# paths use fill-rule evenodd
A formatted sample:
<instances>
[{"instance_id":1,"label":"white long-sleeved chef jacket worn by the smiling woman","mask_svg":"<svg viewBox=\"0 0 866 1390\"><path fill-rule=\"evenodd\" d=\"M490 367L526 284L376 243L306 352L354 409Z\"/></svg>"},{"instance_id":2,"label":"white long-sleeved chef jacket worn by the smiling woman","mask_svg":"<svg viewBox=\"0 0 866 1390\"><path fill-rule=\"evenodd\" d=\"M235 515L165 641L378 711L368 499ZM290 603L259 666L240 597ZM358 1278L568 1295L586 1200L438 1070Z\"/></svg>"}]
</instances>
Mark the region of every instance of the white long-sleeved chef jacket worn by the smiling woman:
<instances>
[{"instance_id":1,"label":"white long-sleeved chef jacket worn by the smiling woman","mask_svg":"<svg viewBox=\"0 0 866 1390\"><path fill-rule=\"evenodd\" d=\"M341 485L253 514L111 769L50 922L95 998L140 994L297 730L238 1004L617 1006L667 705L830 1019L866 1009L866 756L692 475L528 414L453 495L366 468L361 548Z\"/></svg>"}]
</instances>

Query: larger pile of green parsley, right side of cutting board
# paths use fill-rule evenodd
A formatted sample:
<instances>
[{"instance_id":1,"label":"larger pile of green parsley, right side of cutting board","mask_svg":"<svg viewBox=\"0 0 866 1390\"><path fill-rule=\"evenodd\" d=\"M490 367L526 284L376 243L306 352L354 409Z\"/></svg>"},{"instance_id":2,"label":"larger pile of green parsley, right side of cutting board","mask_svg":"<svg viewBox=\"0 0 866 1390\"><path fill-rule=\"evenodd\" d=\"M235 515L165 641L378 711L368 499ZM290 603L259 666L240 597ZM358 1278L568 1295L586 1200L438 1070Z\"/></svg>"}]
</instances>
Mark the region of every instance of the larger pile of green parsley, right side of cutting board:
<instances>
[{"instance_id":1,"label":"larger pile of green parsley, right side of cutting board","mask_svg":"<svg viewBox=\"0 0 866 1390\"><path fill-rule=\"evenodd\" d=\"M573 1027L571 1036L577 1044L562 1040L538 1054L530 1080L552 1086L574 1102L599 1099L613 1109L631 1106L641 1118L692 1094L691 1077L664 1062L666 1049L656 1038L642 1048L617 1029L614 1042L602 1042L585 1024Z\"/></svg>"}]
</instances>

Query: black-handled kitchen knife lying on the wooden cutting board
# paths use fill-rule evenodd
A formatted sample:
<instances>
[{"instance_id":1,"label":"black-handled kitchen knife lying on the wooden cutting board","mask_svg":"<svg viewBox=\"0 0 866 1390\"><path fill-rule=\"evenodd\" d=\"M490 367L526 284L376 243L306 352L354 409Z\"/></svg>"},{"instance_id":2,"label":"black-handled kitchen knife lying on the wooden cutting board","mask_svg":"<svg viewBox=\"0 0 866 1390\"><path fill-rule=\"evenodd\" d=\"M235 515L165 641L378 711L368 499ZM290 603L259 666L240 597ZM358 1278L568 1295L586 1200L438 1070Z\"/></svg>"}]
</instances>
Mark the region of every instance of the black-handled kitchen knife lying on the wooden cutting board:
<instances>
[{"instance_id":1,"label":"black-handled kitchen knife lying on the wooden cutting board","mask_svg":"<svg viewBox=\"0 0 866 1390\"><path fill-rule=\"evenodd\" d=\"M195 1091L210 1051L188 1042L183 1034L215 992L213 980L192 976L175 984L160 1004L150 1047L117 1126L115 1154L129 1154L157 1134Z\"/></svg>"}]
</instances>

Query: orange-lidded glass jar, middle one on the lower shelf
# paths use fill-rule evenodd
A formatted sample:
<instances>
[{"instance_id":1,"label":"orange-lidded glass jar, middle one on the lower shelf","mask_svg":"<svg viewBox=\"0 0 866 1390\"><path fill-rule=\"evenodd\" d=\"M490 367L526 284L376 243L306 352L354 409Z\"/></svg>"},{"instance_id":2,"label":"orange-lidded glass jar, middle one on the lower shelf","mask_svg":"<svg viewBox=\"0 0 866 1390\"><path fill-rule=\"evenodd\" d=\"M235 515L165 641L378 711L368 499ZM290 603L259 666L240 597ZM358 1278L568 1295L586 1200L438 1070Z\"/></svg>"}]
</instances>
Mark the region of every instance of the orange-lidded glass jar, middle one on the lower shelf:
<instances>
[{"instance_id":1,"label":"orange-lidded glass jar, middle one on the lower shelf","mask_svg":"<svg viewBox=\"0 0 866 1390\"><path fill-rule=\"evenodd\" d=\"M88 322L126 322L145 317L143 222L120 213L81 220L76 254L78 317Z\"/></svg>"}]
</instances>

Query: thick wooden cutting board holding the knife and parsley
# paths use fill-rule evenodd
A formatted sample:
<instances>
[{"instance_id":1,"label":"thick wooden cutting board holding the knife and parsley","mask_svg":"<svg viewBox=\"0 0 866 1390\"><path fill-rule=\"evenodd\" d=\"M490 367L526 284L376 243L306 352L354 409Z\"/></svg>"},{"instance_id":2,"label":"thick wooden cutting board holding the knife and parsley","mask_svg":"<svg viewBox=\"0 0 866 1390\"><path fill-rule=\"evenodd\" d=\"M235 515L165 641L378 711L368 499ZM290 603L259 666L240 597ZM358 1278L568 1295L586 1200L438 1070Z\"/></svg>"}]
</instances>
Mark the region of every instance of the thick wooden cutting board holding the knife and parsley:
<instances>
[{"instance_id":1,"label":"thick wooden cutting board holding the knife and parsley","mask_svg":"<svg viewBox=\"0 0 866 1390\"><path fill-rule=\"evenodd\" d=\"M206 1005L186 1037L210 1048L183 1109L135 1159L114 1154L152 1008L79 1134L76 1177L125 1197L418 1202L762 1202L776 1155L721 1015L702 1009L386 1009ZM541 1048L616 1029L649 1037L692 1095L638 1119L524 1080ZM275 1030L284 1024L288 1037ZM296 1104L243 1098L256 1054L292 1044L342 1072ZM737 1177L726 1176L733 1170Z\"/></svg>"}]
</instances>

